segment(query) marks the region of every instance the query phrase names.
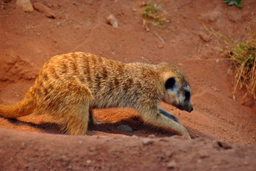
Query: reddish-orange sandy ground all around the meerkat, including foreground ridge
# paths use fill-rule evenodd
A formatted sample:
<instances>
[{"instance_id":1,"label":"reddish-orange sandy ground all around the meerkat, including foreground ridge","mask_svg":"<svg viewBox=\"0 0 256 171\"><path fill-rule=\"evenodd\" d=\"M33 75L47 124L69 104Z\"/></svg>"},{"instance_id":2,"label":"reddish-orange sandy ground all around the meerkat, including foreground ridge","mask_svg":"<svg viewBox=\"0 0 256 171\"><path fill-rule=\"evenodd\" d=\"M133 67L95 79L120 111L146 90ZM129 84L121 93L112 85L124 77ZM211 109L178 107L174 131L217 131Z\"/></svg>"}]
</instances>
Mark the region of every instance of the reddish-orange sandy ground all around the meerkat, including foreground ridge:
<instances>
[{"instance_id":1,"label":"reddish-orange sandy ground all around the meerkat, including foreground ridge","mask_svg":"<svg viewBox=\"0 0 256 171\"><path fill-rule=\"evenodd\" d=\"M222 1L163 2L165 28L142 25L143 1L31 1L46 12L24 12L0 1L0 103L24 98L43 63L54 55L83 51L123 62L178 65L193 89L194 111L160 103L177 115L193 140L146 125L131 109L94 110L101 125L87 136L60 133L45 115L0 118L0 168L4 170L256 170L256 105L232 100L232 68L205 26L239 40L252 24L256 1L244 8ZM118 27L107 23L110 14ZM256 18L253 19L256 22ZM133 133L118 130L128 125ZM18 131L19 130L19 131Z\"/></svg>"}]
</instances>

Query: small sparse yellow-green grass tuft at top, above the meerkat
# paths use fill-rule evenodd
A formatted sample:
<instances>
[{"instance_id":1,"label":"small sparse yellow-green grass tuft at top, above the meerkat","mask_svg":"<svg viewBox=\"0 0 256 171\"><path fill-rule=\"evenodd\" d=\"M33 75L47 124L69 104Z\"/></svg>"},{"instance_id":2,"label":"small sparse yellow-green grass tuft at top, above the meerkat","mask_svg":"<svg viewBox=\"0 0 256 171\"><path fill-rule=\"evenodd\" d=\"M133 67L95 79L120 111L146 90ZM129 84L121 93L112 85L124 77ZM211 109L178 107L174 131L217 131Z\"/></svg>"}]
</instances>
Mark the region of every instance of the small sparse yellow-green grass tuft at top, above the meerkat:
<instances>
[{"instance_id":1,"label":"small sparse yellow-green grass tuft at top, above the meerkat","mask_svg":"<svg viewBox=\"0 0 256 171\"><path fill-rule=\"evenodd\" d=\"M152 6L151 2L152 0L148 1L148 4L142 11L143 26L145 26L147 30L149 30L148 24L152 24L158 28L164 28L164 22L168 22L168 19L165 17L167 13L163 11L163 14L158 14L158 9L163 6L163 3Z\"/></svg>"}]
</instances>

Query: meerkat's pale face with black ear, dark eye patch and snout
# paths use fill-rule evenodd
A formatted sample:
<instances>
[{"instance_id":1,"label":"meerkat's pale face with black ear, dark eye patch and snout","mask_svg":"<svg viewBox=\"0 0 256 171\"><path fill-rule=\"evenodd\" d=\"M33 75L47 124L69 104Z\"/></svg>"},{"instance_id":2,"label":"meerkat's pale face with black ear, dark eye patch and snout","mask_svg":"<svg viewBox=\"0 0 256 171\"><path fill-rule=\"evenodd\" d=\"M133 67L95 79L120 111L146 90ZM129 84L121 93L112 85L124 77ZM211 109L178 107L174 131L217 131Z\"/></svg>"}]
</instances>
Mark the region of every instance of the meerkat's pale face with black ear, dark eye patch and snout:
<instances>
[{"instance_id":1,"label":"meerkat's pale face with black ear, dark eye patch and snout","mask_svg":"<svg viewBox=\"0 0 256 171\"><path fill-rule=\"evenodd\" d=\"M191 89L186 79L180 81L178 78L172 77L165 81L164 102L190 113L193 111L193 105L191 104L190 97Z\"/></svg>"}]
</instances>

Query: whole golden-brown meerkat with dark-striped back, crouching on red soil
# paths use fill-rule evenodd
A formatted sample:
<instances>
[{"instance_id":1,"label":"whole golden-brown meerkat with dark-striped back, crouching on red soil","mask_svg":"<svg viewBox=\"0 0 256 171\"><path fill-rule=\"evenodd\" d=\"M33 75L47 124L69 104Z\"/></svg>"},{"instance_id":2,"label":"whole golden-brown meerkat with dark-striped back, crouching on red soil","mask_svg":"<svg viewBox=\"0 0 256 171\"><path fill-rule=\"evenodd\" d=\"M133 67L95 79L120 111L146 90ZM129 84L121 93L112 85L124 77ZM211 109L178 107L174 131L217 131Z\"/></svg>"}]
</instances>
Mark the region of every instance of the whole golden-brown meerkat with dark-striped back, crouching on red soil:
<instances>
[{"instance_id":1,"label":"whole golden-brown meerkat with dark-striped back, crouching on red soil","mask_svg":"<svg viewBox=\"0 0 256 171\"><path fill-rule=\"evenodd\" d=\"M97 124L93 108L134 108L145 123L185 138L188 131L160 101L191 112L191 89L183 71L170 63L122 63L91 53L67 53L46 62L34 86L16 105L0 105L0 115L18 118L31 113L57 118L68 135L85 135Z\"/></svg>"}]
</instances>

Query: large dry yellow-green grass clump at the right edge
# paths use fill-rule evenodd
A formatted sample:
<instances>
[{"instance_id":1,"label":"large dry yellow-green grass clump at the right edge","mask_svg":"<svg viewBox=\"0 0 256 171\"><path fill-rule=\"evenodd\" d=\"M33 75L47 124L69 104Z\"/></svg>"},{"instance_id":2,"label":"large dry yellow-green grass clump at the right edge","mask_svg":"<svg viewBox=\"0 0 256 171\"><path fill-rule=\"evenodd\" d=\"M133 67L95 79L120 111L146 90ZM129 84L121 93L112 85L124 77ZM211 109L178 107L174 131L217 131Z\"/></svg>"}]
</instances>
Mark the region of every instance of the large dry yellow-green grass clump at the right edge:
<instances>
[{"instance_id":1,"label":"large dry yellow-green grass clump at the right edge","mask_svg":"<svg viewBox=\"0 0 256 171\"><path fill-rule=\"evenodd\" d=\"M226 44L226 47L222 48L222 53L227 56L224 59L232 61L235 70L233 99L235 100L237 88L246 88L245 96L251 95L256 100L256 30L253 14L252 26L249 29L245 28L245 41L235 41L231 36L224 36L213 29L208 31Z\"/></svg>"}]
</instances>

